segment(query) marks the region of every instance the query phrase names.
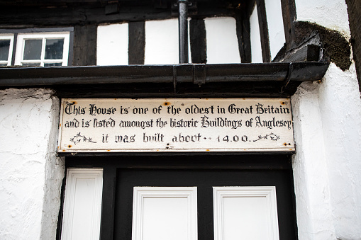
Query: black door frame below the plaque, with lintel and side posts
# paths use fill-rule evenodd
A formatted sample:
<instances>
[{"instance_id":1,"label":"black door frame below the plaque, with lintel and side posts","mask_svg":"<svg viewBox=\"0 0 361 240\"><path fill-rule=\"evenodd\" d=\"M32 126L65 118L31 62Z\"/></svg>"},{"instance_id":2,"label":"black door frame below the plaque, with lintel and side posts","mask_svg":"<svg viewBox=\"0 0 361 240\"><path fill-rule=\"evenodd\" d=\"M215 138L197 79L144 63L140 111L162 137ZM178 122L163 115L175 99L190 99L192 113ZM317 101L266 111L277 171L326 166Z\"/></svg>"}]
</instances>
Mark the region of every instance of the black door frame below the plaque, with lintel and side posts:
<instances>
[{"instance_id":1,"label":"black door frame below the plaque, with lintel and side posts","mask_svg":"<svg viewBox=\"0 0 361 240\"><path fill-rule=\"evenodd\" d=\"M190 156L190 158L187 156ZM199 157L202 156L202 157ZM222 157L224 156L224 157ZM194 160L196 159L196 160ZM245 154L235 152L221 153L170 153L140 154L127 153L109 156L66 156L65 168L103 168L103 194L101 205L101 240L113 239L114 214L116 200L116 174L118 168L144 169L235 169L235 170L266 170L286 171L289 176L292 212L289 212L294 223L294 239L297 239L296 201L294 195L294 179L291 166L291 154ZM57 227L57 239L60 239L62 228L62 207L64 203L65 179L62 185L62 203ZM282 211L279 205L278 211ZM279 234L282 239L280 226Z\"/></svg>"}]
</instances>

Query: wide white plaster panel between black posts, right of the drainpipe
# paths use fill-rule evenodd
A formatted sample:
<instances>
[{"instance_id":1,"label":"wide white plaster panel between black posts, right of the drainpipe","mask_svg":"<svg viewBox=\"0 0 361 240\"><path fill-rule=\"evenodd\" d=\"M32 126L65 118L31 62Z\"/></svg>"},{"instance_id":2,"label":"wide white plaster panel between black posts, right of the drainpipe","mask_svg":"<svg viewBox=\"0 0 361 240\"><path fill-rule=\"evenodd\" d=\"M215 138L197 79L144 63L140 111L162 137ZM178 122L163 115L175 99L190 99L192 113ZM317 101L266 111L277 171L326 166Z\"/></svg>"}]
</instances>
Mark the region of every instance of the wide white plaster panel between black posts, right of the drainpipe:
<instances>
[{"instance_id":1,"label":"wide white plaster panel between black posts, right of the drainpipe","mask_svg":"<svg viewBox=\"0 0 361 240\"><path fill-rule=\"evenodd\" d=\"M240 63L235 18L206 18L207 63Z\"/></svg>"}]
</instances>

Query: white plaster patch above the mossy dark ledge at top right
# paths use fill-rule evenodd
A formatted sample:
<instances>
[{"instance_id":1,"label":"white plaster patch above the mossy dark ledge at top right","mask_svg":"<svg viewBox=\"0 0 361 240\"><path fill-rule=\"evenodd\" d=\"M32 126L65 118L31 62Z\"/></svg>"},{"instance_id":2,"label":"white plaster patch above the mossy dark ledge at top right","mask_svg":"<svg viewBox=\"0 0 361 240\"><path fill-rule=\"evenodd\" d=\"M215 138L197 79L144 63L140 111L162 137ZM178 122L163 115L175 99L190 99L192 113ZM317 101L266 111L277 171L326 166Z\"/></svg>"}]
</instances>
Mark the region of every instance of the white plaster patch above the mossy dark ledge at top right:
<instances>
[{"instance_id":1,"label":"white plaster patch above the mossy dark ledge at top right","mask_svg":"<svg viewBox=\"0 0 361 240\"><path fill-rule=\"evenodd\" d=\"M350 35L345 0L295 0L297 21L309 21Z\"/></svg>"}]
</instances>

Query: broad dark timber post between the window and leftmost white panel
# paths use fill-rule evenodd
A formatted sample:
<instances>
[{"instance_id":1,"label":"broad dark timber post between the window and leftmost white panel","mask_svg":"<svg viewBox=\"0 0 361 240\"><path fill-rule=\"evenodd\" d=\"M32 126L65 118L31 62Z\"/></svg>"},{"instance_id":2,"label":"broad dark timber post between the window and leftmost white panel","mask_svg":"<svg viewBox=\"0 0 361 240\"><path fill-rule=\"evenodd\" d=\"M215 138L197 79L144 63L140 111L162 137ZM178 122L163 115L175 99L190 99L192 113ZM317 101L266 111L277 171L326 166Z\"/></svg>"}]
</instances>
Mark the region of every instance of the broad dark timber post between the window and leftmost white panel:
<instances>
[{"instance_id":1,"label":"broad dark timber post between the window and leftmost white panel","mask_svg":"<svg viewBox=\"0 0 361 240\"><path fill-rule=\"evenodd\" d=\"M96 25L74 27L73 65L96 65Z\"/></svg>"}]
</instances>

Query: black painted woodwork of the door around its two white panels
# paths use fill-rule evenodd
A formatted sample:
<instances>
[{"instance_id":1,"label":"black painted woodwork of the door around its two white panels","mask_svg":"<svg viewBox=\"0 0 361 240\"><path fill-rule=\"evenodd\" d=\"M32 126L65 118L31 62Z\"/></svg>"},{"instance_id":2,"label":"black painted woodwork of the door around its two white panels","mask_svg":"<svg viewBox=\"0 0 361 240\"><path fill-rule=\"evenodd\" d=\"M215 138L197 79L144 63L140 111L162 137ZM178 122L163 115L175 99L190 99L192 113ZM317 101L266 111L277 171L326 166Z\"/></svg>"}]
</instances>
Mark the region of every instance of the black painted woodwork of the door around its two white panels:
<instances>
[{"instance_id":1,"label":"black painted woodwork of the door around its two white panels","mask_svg":"<svg viewBox=\"0 0 361 240\"><path fill-rule=\"evenodd\" d=\"M275 185L279 217L279 239L296 239L293 189L290 171L235 171L203 169L118 169L116 188L115 239L131 239L134 186L196 186L198 205L198 239L214 239L213 186Z\"/></svg>"}]
</instances>

